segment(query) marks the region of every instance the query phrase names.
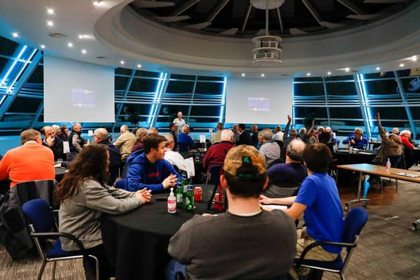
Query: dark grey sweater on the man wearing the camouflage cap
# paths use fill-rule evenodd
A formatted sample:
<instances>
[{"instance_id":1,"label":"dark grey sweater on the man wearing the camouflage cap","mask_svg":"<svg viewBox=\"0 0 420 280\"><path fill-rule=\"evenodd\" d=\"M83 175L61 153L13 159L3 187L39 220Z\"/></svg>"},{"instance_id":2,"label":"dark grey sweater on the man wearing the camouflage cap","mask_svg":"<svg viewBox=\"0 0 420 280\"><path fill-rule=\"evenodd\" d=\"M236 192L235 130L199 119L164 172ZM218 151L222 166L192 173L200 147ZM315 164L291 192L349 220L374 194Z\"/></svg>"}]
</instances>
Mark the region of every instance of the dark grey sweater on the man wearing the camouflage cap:
<instances>
[{"instance_id":1,"label":"dark grey sweater on the man wearing the camouflage cap","mask_svg":"<svg viewBox=\"0 0 420 280\"><path fill-rule=\"evenodd\" d=\"M281 210L195 215L172 237L168 252L186 265L188 279L267 279L292 267L296 228Z\"/></svg>"}]
</instances>

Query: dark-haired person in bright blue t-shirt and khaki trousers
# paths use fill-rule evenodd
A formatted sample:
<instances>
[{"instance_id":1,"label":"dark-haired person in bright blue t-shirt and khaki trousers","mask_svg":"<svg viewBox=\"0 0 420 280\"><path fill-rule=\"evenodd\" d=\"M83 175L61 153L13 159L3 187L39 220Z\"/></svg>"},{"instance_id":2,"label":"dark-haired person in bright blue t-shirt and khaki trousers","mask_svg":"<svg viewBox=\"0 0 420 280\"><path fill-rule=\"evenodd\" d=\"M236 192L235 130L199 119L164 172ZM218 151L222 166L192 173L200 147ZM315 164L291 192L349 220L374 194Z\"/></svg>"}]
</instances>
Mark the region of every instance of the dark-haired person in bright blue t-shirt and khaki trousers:
<instances>
[{"instance_id":1,"label":"dark-haired person in bright blue t-shirt and khaki trousers","mask_svg":"<svg viewBox=\"0 0 420 280\"><path fill-rule=\"evenodd\" d=\"M286 209L293 220L304 214L306 227L297 230L297 255L314 241L342 241L344 228L343 211L334 179L328 175L332 154L323 143L308 145L303 151L304 165L308 176L304 179L295 197L268 198L260 196L263 204L291 204ZM316 246L307 253L311 260L335 260L341 251L339 247ZM301 274L302 271L297 271Z\"/></svg>"}]
</instances>

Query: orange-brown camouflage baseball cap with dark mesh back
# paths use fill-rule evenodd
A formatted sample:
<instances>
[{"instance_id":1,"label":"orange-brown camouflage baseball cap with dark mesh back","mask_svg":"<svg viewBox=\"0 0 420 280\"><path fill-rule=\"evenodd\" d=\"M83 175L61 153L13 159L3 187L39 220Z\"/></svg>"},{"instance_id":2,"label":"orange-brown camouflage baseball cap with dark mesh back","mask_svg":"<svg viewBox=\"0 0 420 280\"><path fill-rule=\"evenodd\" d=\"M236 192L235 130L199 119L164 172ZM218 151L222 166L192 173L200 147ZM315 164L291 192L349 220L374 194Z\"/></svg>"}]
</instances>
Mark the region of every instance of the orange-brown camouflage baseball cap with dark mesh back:
<instances>
[{"instance_id":1,"label":"orange-brown camouflage baseball cap with dark mesh back","mask_svg":"<svg viewBox=\"0 0 420 280\"><path fill-rule=\"evenodd\" d=\"M239 180L257 179L265 174L265 159L253 146L240 145L231 148L226 155L223 171Z\"/></svg>"}]
</instances>

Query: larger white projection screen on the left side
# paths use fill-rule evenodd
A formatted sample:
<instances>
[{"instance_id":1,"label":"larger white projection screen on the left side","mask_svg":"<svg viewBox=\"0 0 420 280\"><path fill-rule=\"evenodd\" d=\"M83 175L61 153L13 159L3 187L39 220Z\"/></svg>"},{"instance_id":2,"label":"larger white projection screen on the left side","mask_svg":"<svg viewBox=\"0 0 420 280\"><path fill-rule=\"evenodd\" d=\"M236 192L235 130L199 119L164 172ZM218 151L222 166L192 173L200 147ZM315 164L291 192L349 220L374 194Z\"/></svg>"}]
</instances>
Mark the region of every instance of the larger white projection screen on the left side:
<instances>
[{"instance_id":1,"label":"larger white projection screen on the left side","mask_svg":"<svg viewBox=\"0 0 420 280\"><path fill-rule=\"evenodd\" d=\"M114 123L114 69L44 55L45 123Z\"/></svg>"}]
</instances>

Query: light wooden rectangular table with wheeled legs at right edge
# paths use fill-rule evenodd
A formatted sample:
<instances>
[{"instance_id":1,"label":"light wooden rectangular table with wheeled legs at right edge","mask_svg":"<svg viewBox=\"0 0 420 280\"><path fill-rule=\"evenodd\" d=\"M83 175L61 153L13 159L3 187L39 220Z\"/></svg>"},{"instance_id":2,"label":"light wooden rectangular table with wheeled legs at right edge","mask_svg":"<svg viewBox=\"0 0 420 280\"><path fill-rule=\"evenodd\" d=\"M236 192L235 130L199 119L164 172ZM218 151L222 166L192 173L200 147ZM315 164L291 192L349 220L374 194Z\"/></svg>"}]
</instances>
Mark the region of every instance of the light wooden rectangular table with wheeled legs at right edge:
<instances>
[{"instance_id":1,"label":"light wooden rectangular table with wheeled legs at right edge","mask_svg":"<svg viewBox=\"0 0 420 280\"><path fill-rule=\"evenodd\" d=\"M356 164L356 165L338 165L337 170L338 169L351 170L353 172L359 172L359 174L360 174L359 181L358 181L357 197L354 200L350 200L349 202L346 202L346 206L344 207L344 210L348 209L350 204L353 204L353 203L356 203L356 202L363 202L363 206L365 206L367 204L367 202L369 201L365 198L360 198L360 192L362 190L363 174L374 174L374 175L378 175L378 176L382 176L382 177L396 179L397 181L396 181L395 184L396 184L397 189L398 189L398 180L420 183L420 172L415 172L415 171L406 170L406 169L391 168L391 170L389 172L387 172L386 167L384 167L384 166L370 165L370 164L367 164L367 163L361 163L361 164ZM402 175L395 174L395 173L400 173L400 172L403 172L403 173L406 173L406 174L413 174L413 175L416 175L416 176L419 176L419 177L409 177L409 176L402 176ZM338 178L338 172L337 172L337 178Z\"/></svg>"}]
</instances>

